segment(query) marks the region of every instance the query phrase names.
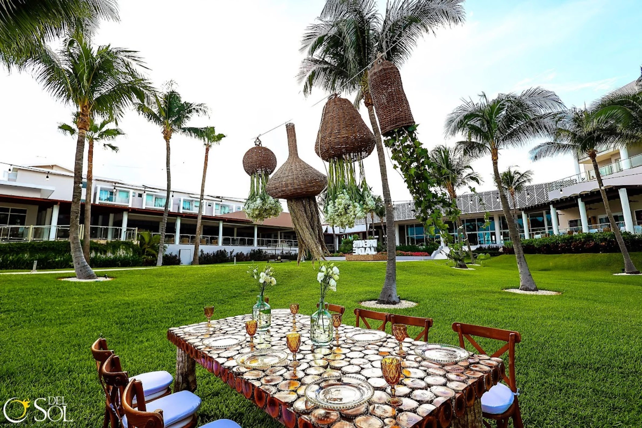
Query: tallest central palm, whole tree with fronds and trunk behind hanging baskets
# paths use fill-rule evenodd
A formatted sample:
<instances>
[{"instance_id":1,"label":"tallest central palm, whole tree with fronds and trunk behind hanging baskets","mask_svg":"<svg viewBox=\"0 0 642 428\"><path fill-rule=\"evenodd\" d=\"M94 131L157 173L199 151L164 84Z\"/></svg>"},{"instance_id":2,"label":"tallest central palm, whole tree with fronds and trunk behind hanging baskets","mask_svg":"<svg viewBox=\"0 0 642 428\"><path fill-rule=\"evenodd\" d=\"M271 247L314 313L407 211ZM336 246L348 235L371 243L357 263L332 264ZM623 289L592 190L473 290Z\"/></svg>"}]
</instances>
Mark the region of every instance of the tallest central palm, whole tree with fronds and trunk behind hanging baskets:
<instances>
[{"instance_id":1,"label":"tallest central palm, whole tree with fronds and trunk behind hanging baskets","mask_svg":"<svg viewBox=\"0 0 642 428\"><path fill-rule=\"evenodd\" d=\"M368 69L377 53L401 66L417 40L437 28L464 22L463 0L398 0L386 4L385 15L377 12L376 0L327 0L317 22L306 28L301 51L299 82L304 94L314 86L324 91L357 93L356 106L363 101L374 132L388 229L386 278L379 301L399 303L395 258L394 207L388 186L381 131L368 88Z\"/></svg>"}]
</instances>

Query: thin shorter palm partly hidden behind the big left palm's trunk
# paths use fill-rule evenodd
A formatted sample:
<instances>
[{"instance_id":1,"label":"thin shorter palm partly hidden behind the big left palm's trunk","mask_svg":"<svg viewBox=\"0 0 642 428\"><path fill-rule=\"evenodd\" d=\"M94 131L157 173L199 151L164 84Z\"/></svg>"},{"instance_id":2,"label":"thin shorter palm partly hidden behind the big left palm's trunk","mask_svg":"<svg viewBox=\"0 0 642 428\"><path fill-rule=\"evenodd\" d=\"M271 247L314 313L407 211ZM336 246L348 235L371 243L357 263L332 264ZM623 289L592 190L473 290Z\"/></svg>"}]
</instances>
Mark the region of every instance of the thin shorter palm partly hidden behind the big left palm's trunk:
<instances>
[{"instance_id":1,"label":"thin shorter palm partly hidden behind the big left palm's trunk","mask_svg":"<svg viewBox=\"0 0 642 428\"><path fill-rule=\"evenodd\" d=\"M76 114L74 119L78 116ZM90 254L89 254L89 242L91 240L91 198L93 190L93 181L94 181L94 142L98 141L103 144L103 148L109 148L114 152L118 152L118 148L110 143L105 141L112 141L116 139L117 136L125 135L125 132L119 128L108 128L110 124L114 123L114 119L105 119L101 121L98 125L94 122L93 119L89 121L89 129L87 129L87 191L85 193L85 231L83 233L82 240L82 252L85 255L85 260L89 263ZM67 123L61 123L58 126L64 134L74 136L77 134L76 129L67 125Z\"/></svg>"}]
</instances>

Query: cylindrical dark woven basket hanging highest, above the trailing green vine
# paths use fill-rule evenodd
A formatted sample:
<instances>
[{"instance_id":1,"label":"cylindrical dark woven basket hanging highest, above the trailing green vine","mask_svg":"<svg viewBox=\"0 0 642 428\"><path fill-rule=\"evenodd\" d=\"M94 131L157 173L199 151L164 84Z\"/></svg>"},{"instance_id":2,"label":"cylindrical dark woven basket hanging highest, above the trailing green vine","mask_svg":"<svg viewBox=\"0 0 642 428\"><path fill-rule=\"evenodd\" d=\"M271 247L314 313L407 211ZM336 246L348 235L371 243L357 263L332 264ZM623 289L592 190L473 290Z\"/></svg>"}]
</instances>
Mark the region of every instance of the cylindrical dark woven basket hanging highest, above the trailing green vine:
<instances>
[{"instance_id":1,"label":"cylindrical dark woven basket hanging highest, above the trailing green vine","mask_svg":"<svg viewBox=\"0 0 642 428\"><path fill-rule=\"evenodd\" d=\"M397 128L415 124L403 91L401 74L395 64L383 58L377 59L368 73L368 85L383 136L388 136Z\"/></svg>"}]
</instances>

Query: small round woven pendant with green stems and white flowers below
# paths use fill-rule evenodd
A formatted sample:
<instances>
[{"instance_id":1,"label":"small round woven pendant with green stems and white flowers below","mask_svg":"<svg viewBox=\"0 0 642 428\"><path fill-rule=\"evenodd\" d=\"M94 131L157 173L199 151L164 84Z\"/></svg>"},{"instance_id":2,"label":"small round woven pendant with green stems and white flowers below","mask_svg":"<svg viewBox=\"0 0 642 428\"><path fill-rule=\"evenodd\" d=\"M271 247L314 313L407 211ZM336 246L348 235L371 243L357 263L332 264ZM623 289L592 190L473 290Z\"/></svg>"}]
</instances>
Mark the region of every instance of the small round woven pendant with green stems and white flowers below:
<instances>
[{"instance_id":1,"label":"small round woven pendant with green stems and white flowers below","mask_svg":"<svg viewBox=\"0 0 642 428\"><path fill-rule=\"evenodd\" d=\"M270 174L276 167L277 157L272 150L261 145L259 138L243 156L243 169L250 175L250 194L243 211L254 222L262 223L266 218L277 217L283 211L281 202L265 190Z\"/></svg>"}]
</instances>

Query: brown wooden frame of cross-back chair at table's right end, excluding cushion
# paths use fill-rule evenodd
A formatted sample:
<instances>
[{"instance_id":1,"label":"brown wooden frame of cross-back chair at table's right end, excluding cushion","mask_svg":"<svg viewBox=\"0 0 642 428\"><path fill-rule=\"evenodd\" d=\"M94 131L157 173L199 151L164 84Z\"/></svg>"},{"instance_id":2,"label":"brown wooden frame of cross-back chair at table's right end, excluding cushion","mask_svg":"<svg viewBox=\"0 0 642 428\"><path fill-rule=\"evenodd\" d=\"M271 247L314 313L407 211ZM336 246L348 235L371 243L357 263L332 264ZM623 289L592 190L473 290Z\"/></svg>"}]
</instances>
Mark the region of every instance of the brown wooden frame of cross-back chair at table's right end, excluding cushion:
<instances>
[{"instance_id":1,"label":"brown wooden frame of cross-back chair at table's right end, excluding cushion","mask_svg":"<svg viewBox=\"0 0 642 428\"><path fill-rule=\"evenodd\" d=\"M483 412L483 417L497 422L498 428L507 428L508 420L512 418L513 425L516 428L523 428L524 424L521 418L521 412L519 411L519 403L517 402L517 384L515 379L515 345L521 342L521 335L519 332L514 332L512 330L501 330L499 328L492 327L483 327L473 324L463 324L463 323L453 323L453 330L459 335L459 344L462 348L465 348L464 339L469 341L474 348L480 353L489 355L491 358L501 357L506 352L508 352L508 374L506 371L502 371L501 377L508 384L508 388L512 391L514 395L514 400L510 407L506 411L500 414L487 413ZM486 339L493 339L496 341L506 342L501 348L496 350L494 353L486 352L480 344L478 344L473 336L476 337L485 337ZM494 386L493 388L496 388ZM488 391L486 394L489 393ZM482 396L482 405L483 405L483 396ZM484 421L486 427L490 427L490 424Z\"/></svg>"}]
</instances>

